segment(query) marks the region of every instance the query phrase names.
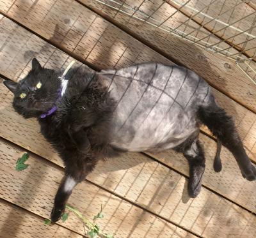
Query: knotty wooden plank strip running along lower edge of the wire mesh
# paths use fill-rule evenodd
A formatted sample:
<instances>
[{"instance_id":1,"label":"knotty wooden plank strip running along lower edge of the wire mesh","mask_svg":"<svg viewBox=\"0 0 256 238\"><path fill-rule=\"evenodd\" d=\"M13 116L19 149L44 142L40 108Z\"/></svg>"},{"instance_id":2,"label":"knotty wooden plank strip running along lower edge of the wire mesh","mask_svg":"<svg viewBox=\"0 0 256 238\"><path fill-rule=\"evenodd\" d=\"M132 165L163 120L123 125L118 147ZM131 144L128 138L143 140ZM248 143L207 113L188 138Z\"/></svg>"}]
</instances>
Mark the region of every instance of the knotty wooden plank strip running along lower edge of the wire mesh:
<instances>
[{"instance_id":1,"label":"knotty wooden plank strip running along lower edge of the wire mesh","mask_svg":"<svg viewBox=\"0 0 256 238\"><path fill-rule=\"evenodd\" d=\"M211 86L256 112L256 86L250 82L243 71L237 68L234 61L192 45L172 34L164 33L154 26L141 24L140 20L130 19L129 16L116 13L111 8L104 8L96 1L79 0L79 2L111 20L147 45L156 48L164 56L195 71Z\"/></svg>"}]
</instances>

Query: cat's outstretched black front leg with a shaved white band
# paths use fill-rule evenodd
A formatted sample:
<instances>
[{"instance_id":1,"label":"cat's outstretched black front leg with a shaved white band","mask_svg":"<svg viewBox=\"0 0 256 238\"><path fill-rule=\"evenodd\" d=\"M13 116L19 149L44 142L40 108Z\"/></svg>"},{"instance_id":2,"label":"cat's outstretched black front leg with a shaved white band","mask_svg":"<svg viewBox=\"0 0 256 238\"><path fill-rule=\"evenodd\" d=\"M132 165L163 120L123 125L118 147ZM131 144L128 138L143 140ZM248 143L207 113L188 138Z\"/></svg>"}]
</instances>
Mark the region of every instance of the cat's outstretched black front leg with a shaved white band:
<instances>
[{"instance_id":1,"label":"cat's outstretched black front leg with a shaved white band","mask_svg":"<svg viewBox=\"0 0 256 238\"><path fill-rule=\"evenodd\" d=\"M66 175L61 180L60 186L54 198L54 206L51 212L51 220L58 221L65 211L65 206L72 190L79 182L83 181L86 175L92 172L97 160L90 156L73 158L66 163Z\"/></svg>"}]
</instances>

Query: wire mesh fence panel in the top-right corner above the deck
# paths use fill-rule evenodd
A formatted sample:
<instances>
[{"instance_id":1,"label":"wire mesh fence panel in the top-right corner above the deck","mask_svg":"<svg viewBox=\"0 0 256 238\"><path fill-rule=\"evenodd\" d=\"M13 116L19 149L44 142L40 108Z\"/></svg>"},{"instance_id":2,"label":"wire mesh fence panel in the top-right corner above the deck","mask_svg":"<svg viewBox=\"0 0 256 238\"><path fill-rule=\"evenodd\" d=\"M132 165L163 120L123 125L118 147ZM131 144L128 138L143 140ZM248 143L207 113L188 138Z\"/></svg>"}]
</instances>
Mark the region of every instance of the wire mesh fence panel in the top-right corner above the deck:
<instances>
[{"instance_id":1,"label":"wire mesh fence panel in the top-right corner above the deck","mask_svg":"<svg viewBox=\"0 0 256 238\"><path fill-rule=\"evenodd\" d=\"M235 60L256 84L256 0L93 1Z\"/></svg>"}]
</instances>

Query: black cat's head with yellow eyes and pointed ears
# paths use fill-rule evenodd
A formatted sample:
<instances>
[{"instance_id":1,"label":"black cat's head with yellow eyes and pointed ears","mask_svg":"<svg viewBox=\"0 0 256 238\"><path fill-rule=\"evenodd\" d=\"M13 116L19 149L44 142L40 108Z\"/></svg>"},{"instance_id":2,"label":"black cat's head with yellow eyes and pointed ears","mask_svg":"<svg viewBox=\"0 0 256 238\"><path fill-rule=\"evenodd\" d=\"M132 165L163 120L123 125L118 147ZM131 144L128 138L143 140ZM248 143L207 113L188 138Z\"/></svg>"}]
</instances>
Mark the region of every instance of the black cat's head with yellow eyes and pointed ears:
<instances>
[{"instance_id":1,"label":"black cat's head with yellow eyes and pointed ears","mask_svg":"<svg viewBox=\"0 0 256 238\"><path fill-rule=\"evenodd\" d=\"M4 85L14 94L13 108L25 118L39 117L50 110L58 100L61 82L58 73L43 68L34 58L32 70L16 83L4 81Z\"/></svg>"}]
</instances>

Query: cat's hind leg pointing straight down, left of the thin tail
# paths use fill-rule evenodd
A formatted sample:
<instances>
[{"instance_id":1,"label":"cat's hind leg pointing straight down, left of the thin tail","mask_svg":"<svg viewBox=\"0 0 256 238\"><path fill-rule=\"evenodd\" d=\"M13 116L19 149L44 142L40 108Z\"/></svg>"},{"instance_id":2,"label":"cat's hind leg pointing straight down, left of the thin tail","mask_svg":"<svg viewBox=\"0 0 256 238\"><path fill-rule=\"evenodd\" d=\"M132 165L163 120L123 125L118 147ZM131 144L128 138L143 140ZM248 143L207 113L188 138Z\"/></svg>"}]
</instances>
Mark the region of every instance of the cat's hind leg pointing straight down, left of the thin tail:
<instances>
[{"instance_id":1,"label":"cat's hind leg pointing straight down, left of the thin tail","mask_svg":"<svg viewBox=\"0 0 256 238\"><path fill-rule=\"evenodd\" d=\"M204 149L196 138L190 146L184 148L183 154L189 163L189 197L195 198L200 193L205 170Z\"/></svg>"}]
</instances>

